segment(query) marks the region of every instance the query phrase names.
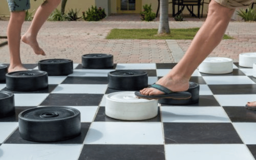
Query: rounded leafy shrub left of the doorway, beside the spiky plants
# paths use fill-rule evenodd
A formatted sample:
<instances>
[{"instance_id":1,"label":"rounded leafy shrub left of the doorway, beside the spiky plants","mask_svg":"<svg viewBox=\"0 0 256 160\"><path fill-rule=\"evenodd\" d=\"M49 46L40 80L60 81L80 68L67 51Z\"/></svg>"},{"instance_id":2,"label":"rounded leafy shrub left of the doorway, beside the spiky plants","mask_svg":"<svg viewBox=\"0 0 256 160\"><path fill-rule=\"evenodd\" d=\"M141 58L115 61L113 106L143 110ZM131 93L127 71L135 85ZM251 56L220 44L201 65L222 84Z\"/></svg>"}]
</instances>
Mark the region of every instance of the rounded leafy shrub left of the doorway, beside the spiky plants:
<instances>
[{"instance_id":1,"label":"rounded leafy shrub left of the doorway, beside the spiky plants","mask_svg":"<svg viewBox=\"0 0 256 160\"><path fill-rule=\"evenodd\" d=\"M84 20L87 21L99 21L102 20L103 18L106 17L105 9L99 9L95 6L90 9L88 8L88 11L86 11L86 16L85 12L83 12L83 18Z\"/></svg>"}]
</instances>

